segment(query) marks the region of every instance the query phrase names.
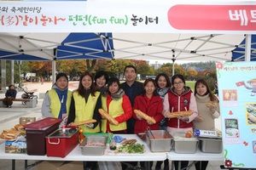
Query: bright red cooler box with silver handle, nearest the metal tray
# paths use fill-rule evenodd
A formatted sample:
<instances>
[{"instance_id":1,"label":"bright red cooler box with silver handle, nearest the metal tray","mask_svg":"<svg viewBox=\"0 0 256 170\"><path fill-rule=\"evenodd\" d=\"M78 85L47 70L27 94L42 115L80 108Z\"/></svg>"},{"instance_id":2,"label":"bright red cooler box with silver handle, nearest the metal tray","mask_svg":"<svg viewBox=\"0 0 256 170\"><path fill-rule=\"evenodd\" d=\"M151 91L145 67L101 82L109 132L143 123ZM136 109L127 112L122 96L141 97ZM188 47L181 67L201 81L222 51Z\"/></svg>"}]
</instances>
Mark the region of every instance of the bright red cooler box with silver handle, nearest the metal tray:
<instances>
[{"instance_id":1,"label":"bright red cooler box with silver handle, nearest the metal tray","mask_svg":"<svg viewBox=\"0 0 256 170\"><path fill-rule=\"evenodd\" d=\"M59 128L46 137L46 155L65 157L79 144L79 128Z\"/></svg>"}]
</instances>

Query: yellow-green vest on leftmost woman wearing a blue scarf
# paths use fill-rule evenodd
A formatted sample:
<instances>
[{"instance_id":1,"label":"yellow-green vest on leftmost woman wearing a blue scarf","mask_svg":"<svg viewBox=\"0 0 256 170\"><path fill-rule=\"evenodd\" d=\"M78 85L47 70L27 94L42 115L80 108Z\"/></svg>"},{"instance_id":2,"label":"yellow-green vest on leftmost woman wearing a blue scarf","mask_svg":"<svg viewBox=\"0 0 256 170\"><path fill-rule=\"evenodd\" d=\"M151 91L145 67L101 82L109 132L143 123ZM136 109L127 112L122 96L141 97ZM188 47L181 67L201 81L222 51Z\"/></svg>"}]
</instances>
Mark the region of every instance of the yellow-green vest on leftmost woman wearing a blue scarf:
<instances>
[{"instance_id":1,"label":"yellow-green vest on leftmost woman wearing a blue scarf","mask_svg":"<svg viewBox=\"0 0 256 170\"><path fill-rule=\"evenodd\" d=\"M59 117L60 111L61 111L61 101L59 99L58 94L56 93L55 89L51 89L48 91L49 94L49 99L50 99L50 113L55 116L55 118ZM69 113L69 107L71 103L71 98L72 98L72 92L70 90L67 91L67 115Z\"/></svg>"}]
</instances>

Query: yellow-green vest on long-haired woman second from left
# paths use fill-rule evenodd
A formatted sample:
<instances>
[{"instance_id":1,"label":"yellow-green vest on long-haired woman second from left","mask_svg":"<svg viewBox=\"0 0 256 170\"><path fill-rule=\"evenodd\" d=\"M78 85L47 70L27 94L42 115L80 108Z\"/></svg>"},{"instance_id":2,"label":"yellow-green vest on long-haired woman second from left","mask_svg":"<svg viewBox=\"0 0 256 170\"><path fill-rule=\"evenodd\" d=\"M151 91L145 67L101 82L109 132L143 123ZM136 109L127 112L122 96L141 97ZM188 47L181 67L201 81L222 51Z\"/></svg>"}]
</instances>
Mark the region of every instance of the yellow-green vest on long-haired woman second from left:
<instances>
[{"instance_id":1,"label":"yellow-green vest on long-haired woman second from left","mask_svg":"<svg viewBox=\"0 0 256 170\"><path fill-rule=\"evenodd\" d=\"M95 96L89 95L87 103L85 99L79 95L78 92L73 93L73 99L75 102L75 119L74 122L87 121L93 118L94 110L96 107L97 99L100 96L100 92L96 92ZM100 132L100 123L95 128L84 127L81 125L79 127L83 128L84 133L98 133Z\"/></svg>"}]
</instances>

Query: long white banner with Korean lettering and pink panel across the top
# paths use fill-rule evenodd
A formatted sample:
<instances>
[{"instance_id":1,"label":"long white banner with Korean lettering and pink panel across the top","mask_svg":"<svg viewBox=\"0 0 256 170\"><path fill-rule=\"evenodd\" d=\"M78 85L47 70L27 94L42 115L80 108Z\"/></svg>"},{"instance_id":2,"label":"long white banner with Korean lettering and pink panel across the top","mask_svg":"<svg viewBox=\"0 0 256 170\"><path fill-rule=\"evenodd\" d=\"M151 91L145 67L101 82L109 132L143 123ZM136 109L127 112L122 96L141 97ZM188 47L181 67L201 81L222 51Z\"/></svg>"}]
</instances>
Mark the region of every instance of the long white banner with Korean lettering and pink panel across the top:
<instances>
[{"instance_id":1,"label":"long white banner with Korean lettering and pink panel across the top","mask_svg":"<svg viewBox=\"0 0 256 170\"><path fill-rule=\"evenodd\" d=\"M0 28L2 32L253 34L255 5L166 0L0 1Z\"/></svg>"}]
</instances>

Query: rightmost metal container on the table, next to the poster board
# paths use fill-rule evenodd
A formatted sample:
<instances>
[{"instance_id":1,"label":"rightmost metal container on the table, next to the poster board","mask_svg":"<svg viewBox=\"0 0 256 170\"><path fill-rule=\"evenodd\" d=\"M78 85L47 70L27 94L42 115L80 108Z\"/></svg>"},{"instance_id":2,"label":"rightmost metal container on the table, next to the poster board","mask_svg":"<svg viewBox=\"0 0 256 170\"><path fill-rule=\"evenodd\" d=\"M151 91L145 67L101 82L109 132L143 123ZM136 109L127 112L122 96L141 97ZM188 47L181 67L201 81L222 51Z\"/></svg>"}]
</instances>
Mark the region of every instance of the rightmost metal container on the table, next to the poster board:
<instances>
[{"instance_id":1,"label":"rightmost metal container on the table, next to the poster board","mask_svg":"<svg viewBox=\"0 0 256 170\"><path fill-rule=\"evenodd\" d=\"M199 139L199 148L204 153L221 153L223 150L222 139Z\"/></svg>"}]
</instances>

